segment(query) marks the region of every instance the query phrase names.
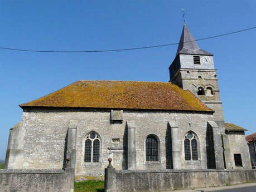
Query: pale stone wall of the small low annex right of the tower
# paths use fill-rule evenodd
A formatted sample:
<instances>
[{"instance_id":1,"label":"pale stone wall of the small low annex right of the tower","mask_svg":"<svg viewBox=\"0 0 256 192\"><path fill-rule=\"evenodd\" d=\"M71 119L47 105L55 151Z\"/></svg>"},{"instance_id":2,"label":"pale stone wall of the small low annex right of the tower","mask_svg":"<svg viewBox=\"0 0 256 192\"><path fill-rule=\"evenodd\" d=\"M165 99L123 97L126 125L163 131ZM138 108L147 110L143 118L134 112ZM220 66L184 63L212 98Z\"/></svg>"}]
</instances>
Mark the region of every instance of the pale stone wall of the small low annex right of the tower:
<instances>
[{"instance_id":1,"label":"pale stone wall of the small low annex right of the tower","mask_svg":"<svg viewBox=\"0 0 256 192\"><path fill-rule=\"evenodd\" d=\"M231 159L233 162L233 169L252 169L250 163L249 148L244 135L242 134L228 134L230 142ZM243 168L235 166L234 154L241 154Z\"/></svg>"}]
</instances>

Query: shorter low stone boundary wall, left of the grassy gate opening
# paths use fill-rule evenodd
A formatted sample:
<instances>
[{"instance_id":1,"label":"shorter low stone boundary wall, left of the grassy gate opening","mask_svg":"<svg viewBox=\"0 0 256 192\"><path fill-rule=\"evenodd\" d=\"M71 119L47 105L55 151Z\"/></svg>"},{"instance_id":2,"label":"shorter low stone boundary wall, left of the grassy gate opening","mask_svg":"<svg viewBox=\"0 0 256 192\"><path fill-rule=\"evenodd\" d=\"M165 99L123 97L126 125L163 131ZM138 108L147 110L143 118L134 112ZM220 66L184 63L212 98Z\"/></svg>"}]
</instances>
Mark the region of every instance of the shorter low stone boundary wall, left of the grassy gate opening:
<instances>
[{"instance_id":1,"label":"shorter low stone boundary wall, left of the grassy gate opening","mask_svg":"<svg viewBox=\"0 0 256 192\"><path fill-rule=\"evenodd\" d=\"M1 192L72 192L74 169L65 170L0 170Z\"/></svg>"}]
</instances>

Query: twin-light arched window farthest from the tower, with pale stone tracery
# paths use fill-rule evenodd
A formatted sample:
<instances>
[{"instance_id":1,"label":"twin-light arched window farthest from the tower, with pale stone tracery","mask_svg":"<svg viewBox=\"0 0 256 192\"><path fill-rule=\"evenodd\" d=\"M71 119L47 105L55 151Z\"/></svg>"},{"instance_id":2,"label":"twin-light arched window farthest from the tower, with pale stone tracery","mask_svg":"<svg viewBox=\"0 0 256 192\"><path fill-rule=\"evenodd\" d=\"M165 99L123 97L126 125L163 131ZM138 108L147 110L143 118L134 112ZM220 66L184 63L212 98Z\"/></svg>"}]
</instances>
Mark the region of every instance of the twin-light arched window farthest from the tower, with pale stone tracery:
<instances>
[{"instance_id":1,"label":"twin-light arched window farthest from the tower, with pale stone tracery","mask_svg":"<svg viewBox=\"0 0 256 192\"><path fill-rule=\"evenodd\" d=\"M91 132L85 139L84 162L99 162L100 139L97 134Z\"/></svg>"}]
</instances>

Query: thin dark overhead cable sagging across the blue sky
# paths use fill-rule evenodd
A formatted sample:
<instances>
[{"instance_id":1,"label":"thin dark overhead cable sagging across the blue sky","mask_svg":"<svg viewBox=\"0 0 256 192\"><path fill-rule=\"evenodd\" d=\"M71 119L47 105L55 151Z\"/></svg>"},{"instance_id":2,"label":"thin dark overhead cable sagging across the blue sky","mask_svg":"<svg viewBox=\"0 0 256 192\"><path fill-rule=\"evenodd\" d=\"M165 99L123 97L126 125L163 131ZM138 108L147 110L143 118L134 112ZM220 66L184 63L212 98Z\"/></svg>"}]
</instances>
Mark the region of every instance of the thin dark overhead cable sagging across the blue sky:
<instances>
[{"instance_id":1,"label":"thin dark overhead cable sagging across the blue sky","mask_svg":"<svg viewBox=\"0 0 256 192\"><path fill-rule=\"evenodd\" d=\"M223 33L221 35L211 36L211 37L205 37L200 38L195 41L202 41L202 40L209 40L211 38L221 37L221 36L227 36L234 33L240 33L244 31L249 31L251 29L255 29L256 27L250 27L241 29L239 31L229 32L229 33ZM186 41L185 43L192 42L192 41ZM48 52L48 53L90 53L90 52L114 52L114 51L129 51L129 50L142 50L144 48L156 48L156 47L165 47L165 46L172 46L172 45L178 45L178 43L169 43L169 44L163 44L163 45L153 45L153 46L144 46L144 47L132 47L132 48L121 48L121 49L115 49L115 50L88 50L88 51L54 51L54 50L22 50L18 48L9 48L9 47L0 47L2 50L10 50L10 51L25 51L25 52Z\"/></svg>"}]
</instances>

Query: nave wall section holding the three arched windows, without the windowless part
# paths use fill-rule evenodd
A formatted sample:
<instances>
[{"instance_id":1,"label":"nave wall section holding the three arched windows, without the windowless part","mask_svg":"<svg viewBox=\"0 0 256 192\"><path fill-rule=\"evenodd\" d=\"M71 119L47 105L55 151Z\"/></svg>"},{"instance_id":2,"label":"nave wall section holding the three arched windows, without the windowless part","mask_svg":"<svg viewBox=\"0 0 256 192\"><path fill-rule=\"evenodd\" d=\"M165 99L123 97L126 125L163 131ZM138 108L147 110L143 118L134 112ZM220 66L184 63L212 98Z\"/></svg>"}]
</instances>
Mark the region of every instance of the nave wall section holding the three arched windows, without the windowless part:
<instances>
[{"instance_id":1,"label":"nave wall section holding the three arched windows, without the windowless part","mask_svg":"<svg viewBox=\"0 0 256 192\"><path fill-rule=\"evenodd\" d=\"M171 169L171 130L168 121L178 121L179 142L182 169L206 169L206 127L207 119L212 115L191 114L184 112L165 111L124 111L123 122L112 124L110 111L76 112L79 119L76 156L76 176L101 176L112 157L116 169L127 169L127 121L134 121L136 126L136 163L137 169ZM194 131L199 137L199 160L185 161L183 152L183 137L186 132ZM84 162L84 142L89 132L95 131L102 140L100 163ZM160 161L147 162L145 141L148 135L155 135L160 141ZM119 139L120 142L113 142ZM90 177L85 177L85 179Z\"/></svg>"}]
</instances>

